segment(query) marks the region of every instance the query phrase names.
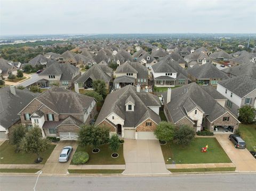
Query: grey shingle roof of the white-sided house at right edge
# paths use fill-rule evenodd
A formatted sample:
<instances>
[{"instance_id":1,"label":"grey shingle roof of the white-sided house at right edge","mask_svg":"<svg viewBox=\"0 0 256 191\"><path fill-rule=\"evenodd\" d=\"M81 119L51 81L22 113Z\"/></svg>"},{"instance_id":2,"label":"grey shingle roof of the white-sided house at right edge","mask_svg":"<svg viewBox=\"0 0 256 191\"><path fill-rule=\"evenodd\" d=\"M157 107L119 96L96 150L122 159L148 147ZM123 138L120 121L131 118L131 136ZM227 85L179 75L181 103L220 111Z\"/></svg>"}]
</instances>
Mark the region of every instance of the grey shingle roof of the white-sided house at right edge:
<instances>
[{"instance_id":1,"label":"grey shingle roof of the white-sided house at right edge","mask_svg":"<svg viewBox=\"0 0 256 191\"><path fill-rule=\"evenodd\" d=\"M256 89L256 80L246 75L222 80L219 81L218 84L230 90L230 92L233 92L239 97L244 97Z\"/></svg>"}]
</instances>

